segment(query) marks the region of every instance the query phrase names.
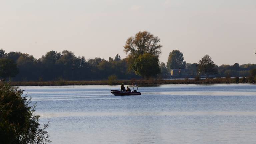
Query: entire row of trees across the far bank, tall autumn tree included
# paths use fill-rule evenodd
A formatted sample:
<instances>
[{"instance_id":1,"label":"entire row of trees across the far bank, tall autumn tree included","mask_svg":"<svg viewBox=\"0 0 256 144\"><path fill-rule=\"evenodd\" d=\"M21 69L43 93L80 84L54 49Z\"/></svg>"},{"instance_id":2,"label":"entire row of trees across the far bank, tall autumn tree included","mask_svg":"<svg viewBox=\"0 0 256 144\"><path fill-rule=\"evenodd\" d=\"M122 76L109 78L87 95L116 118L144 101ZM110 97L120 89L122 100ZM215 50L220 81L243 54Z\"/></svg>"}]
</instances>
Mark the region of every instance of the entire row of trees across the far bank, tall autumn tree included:
<instances>
[{"instance_id":1,"label":"entire row of trees across the far bank, tall autumn tree included","mask_svg":"<svg viewBox=\"0 0 256 144\"><path fill-rule=\"evenodd\" d=\"M255 64L217 66L209 55L198 63L186 63L182 52L173 50L166 63L159 63L160 39L153 34L138 32L126 40L123 46L127 57L108 60L96 57L86 59L75 56L71 51L49 51L41 58L22 52L5 53L0 50L0 77L14 77L14 81L57 81L57 80L106 80L170 78L171 69L178 70L177 77L252 77ZM256 78L254 78L256 80Z\"/></svg>"}]
</instances>

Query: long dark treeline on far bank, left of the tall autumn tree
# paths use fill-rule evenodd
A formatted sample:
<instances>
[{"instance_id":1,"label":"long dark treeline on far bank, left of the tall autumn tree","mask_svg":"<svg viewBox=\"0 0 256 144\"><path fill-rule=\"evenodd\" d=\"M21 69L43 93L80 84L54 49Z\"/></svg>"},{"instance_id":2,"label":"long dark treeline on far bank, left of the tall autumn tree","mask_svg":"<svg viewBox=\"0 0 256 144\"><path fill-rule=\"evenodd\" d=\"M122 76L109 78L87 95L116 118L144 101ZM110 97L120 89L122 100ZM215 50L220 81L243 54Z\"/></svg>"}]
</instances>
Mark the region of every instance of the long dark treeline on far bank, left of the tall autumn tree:
<instances>
[{"instance_id":1,"label":"long dark treeline on far bank, left of the tall autumn tree","mask_svg":"<svg viewBox=\"0 0 256 144\"><path fill-rule=\"evenodd\" d=\"M118 54L109 60L99 57L86 60L84 56L76 57L73 52L64 50L61 53L49 51L36 59L27 53L5 53L1 49L0 63L6 64L8 60L17 65L17 75L12 75L15 68L9 68L11 71L6 75L0 72L0 75L14 77L14 81L101 80L108 79L110 75L116 75L118 79L140 78L128 71L126 59L121 59Z\"/></svg>"}]
</instances>

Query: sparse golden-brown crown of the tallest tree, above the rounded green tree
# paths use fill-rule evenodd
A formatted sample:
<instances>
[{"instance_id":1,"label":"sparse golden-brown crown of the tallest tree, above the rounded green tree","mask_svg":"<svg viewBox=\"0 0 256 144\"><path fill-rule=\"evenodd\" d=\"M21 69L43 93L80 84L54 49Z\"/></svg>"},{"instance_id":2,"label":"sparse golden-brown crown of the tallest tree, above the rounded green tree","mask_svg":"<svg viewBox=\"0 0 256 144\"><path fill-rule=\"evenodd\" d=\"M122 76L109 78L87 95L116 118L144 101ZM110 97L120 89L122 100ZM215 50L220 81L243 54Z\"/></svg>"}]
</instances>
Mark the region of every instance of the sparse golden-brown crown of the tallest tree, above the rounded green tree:
<instances>
[{"instance_id":1,"label":"sparse golden-brown crown of the tallest tree, above the rounded green tree","mask_svg":"<svg viewBox=\"0 0 256 144\"><path fill-rule=\"evenodd\" d=\"M160 39L157 36L152 35L151 33L144 31L138 32L135 37L129 37L125 43L124 51L133 55L136 58L139 55L145 53L159 57L161 53L160 48L162 45L158 44Z\"/></svg>"}]
</instances>

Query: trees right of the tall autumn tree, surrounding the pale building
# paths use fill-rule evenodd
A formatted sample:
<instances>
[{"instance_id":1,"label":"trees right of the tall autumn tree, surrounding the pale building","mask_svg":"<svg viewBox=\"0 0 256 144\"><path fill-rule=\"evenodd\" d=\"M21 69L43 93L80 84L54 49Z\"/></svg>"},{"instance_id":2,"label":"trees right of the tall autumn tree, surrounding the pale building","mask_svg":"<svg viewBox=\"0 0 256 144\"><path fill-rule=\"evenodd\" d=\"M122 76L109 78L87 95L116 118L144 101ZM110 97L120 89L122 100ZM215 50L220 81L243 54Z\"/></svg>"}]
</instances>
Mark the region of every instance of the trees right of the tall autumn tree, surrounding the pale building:
<instances>
[{"instance_id":1,"label":"trees right of the tall autumn tree, surrounding the pale building","mask_svg":"<svg viewBox=\"0 0 256 144\"><path fill-rule=\"evenodd\" d=\"M186 63L183 58L182 52L179 50L173 50L170 52L168 61L165 63L160 64L160 69L162 75L166 77L170 77L171 69L188 69L188 76L195 77L198 75L204 75L205 71L202 71L203 67L209 67L209 75L214 75L215 77L248 77L250 76L250 71L256 69L256 64L242 64L239 65L235 63L234 65L216 65L211 60L211 58L206 55L208 59L203 60L204 57L199 60L198 63ZM201 63L200 63L201 61ZM211 62L211 64L209 63ZM202 66L202 64L206 64ZM211 65L211 66L209 66Z\"/></svg>"}]
</instances>

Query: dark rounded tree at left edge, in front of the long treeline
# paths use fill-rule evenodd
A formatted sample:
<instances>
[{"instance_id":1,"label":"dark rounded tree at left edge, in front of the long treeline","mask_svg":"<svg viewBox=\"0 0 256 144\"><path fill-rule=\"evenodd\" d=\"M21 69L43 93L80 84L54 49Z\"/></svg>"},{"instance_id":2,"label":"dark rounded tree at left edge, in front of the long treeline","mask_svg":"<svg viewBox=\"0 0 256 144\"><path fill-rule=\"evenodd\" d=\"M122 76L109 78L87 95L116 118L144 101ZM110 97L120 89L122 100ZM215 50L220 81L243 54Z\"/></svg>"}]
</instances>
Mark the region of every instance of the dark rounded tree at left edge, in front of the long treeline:
<instances>
[{"instance_id":1,"label":"dark rounded tree at left edge, in front of the long treeline","mask_svg":"<svg viewBox=\"0 0 256 144\"><path fill-rule=\"evenodd\" d=\"M0 77L15 77L18 72L17 64L12 59L0 59Z\"/></svg>"}]
</instances>

